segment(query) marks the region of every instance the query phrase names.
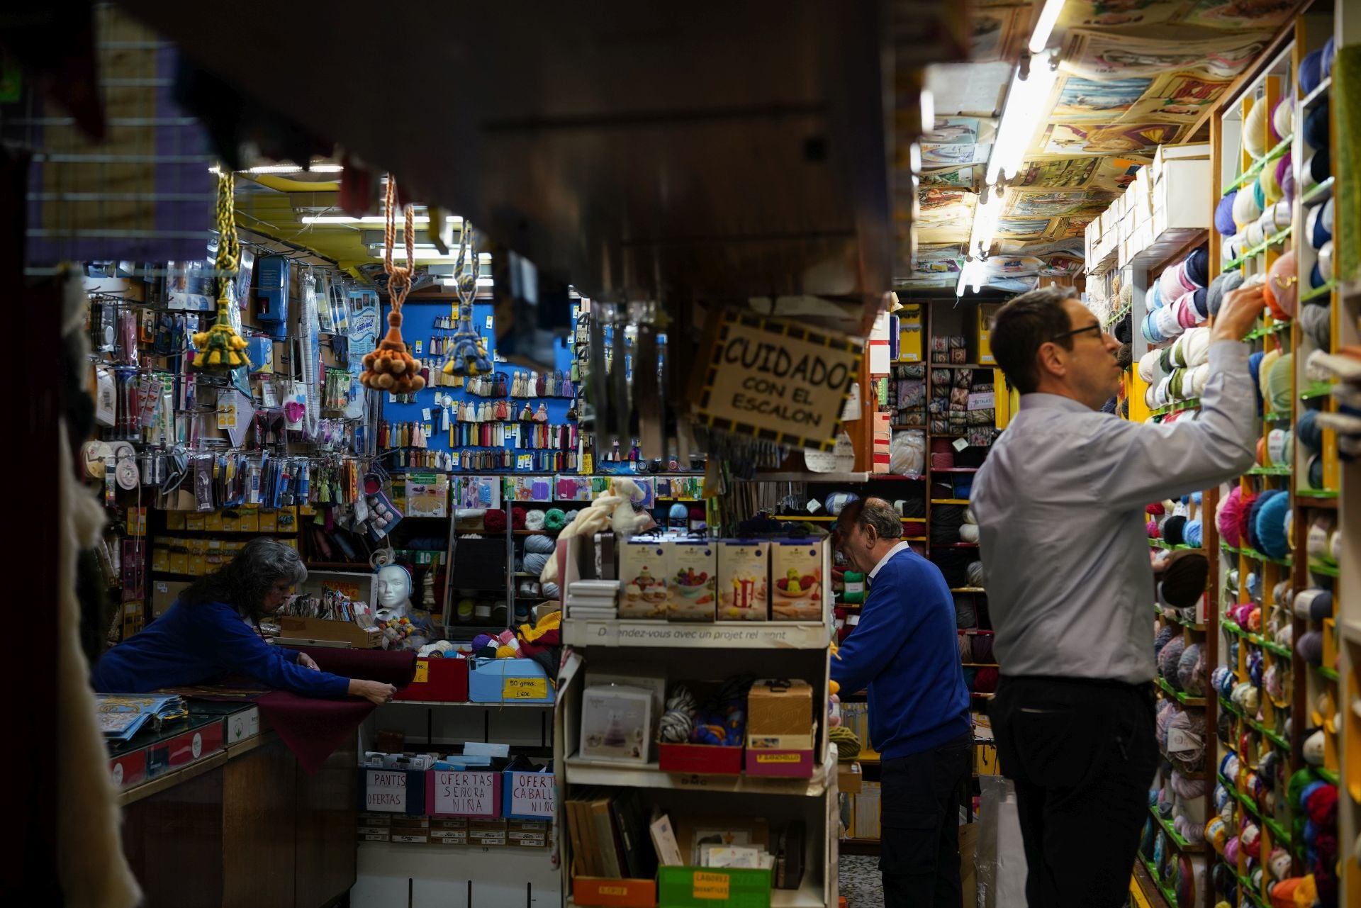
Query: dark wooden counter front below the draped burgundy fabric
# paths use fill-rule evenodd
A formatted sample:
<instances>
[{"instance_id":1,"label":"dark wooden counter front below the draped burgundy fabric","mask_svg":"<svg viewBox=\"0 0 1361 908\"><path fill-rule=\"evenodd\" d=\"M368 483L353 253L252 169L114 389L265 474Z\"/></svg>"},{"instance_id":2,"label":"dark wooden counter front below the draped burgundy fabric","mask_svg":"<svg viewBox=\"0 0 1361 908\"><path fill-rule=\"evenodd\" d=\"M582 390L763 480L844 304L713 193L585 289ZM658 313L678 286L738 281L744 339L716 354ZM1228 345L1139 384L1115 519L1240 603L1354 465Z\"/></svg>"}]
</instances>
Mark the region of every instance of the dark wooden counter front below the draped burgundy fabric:
<instances>
[{"instance_id":1,"label":"dark wooden counter front below the draped burgundy fabric","mask_svg":"<svg viewBox=\"0 0 1361 908\"><path fill-rule=\"evenodd\" d=\"M355 879L355 743L309 776L274 732L121 795L147 908L323 908Z\"/></svg>"}]
</instances>

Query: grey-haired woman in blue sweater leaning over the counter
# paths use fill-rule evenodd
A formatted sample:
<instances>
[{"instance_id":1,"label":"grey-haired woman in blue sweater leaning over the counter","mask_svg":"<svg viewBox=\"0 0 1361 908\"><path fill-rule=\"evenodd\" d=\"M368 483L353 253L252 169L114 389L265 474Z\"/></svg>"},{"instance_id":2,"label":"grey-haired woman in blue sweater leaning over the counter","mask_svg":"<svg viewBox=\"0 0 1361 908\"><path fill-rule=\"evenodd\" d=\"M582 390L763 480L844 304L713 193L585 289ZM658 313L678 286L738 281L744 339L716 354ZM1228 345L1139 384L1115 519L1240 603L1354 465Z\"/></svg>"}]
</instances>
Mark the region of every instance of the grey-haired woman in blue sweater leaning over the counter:
<instances>
[{"instance_id":1,"label":"grey-haired woman in blue sweater leaning over the counter","mask_svg":"<svg viewBox=\"0 0 1361 908\"><path fill-rule=\"evenodd\" d=\"M388 702L396 687L342 678L310 656L260 638L260 619L278 611L308 579L298 553L276 539L252 539L222 569L200 577L144 630L103 653L91 672L99 693L133 694L241 674L305 697L365 697Z\"/></svg>"}]
</instances>

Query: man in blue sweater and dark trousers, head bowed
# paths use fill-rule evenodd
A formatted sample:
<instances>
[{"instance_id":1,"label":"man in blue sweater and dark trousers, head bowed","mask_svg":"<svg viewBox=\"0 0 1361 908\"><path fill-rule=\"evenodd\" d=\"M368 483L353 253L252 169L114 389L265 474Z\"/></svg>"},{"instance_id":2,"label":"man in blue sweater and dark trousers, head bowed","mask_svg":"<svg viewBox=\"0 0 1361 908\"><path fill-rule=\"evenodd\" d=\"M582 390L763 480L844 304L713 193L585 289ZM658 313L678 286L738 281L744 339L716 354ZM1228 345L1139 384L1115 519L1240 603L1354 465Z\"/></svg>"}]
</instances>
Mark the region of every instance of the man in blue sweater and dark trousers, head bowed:
<instances>
[{"instance_id":1,"label":"man in blue sweater and dark trousers, head bowed","mask_svg":"<svg viewBox=\"0 0 1361 908\"><path fill-rule=\"evenodd\" d=\"M870 692L870 739L882 756L883 904L960 908L958 805L973 730L954 599L940 569L902 542L887 501L849 504L837 536L870 585L832 678L845 694Z\"/></svg>"}]
</instances>

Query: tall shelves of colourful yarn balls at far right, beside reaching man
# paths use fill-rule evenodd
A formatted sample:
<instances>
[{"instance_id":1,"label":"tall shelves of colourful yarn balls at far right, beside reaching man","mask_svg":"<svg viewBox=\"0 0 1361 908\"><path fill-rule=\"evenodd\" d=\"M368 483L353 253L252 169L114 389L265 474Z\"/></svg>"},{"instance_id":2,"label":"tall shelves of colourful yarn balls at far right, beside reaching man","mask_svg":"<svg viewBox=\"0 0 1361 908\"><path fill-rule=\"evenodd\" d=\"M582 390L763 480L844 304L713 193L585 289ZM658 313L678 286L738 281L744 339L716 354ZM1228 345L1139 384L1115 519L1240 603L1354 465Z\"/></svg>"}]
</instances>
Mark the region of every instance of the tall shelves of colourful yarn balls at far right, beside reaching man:
<instances>
[{"instance_id":1,"label":"tall shelves of colourful yarn balls at far right, beside reaching man","mask_svg":"<svg viewBox=\"0 0 1361 908\"><path fill-rule=\"evenodd\" d=\"M1260 414L1256 466L1206 493L1215 510L1204 535L1221 653L1210 692L1221 716L1204 834L1214 897L1239 907L1270 904L1274 886L1298 885L1282 881L1307 873L1319 878L1324 904L1339 904L1337 882L1328 879L1334 860L1320 862L1317 851L1332 848L1335 811L1324 817L1316 800L1298 796L1301 788L1313 795L1317 784L1335 784L1341 765L1332 681L1341 677L1334 667L1338 569L1326 564L1337 508L1335 442L1313 425L1313 414L1332 403L1327 376L1311 366L1312 354L1327 351L1338 334L1327 276L1311 280L1324 237L1309 208L1331 185L1328 174L1307 174L1320 129L1327 135L1326 118L1311 116L1327 91L1308 84L1316 75L1301 75L1307 50L1327 37L1315 25L1301 18L1294 44L1239 97L1225 98L1213 124L1222 154L1211 259L1232 275L1217 282L1262 280L1268 302L1247 336Z\"/></svg>"}]
</instances>

